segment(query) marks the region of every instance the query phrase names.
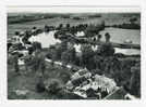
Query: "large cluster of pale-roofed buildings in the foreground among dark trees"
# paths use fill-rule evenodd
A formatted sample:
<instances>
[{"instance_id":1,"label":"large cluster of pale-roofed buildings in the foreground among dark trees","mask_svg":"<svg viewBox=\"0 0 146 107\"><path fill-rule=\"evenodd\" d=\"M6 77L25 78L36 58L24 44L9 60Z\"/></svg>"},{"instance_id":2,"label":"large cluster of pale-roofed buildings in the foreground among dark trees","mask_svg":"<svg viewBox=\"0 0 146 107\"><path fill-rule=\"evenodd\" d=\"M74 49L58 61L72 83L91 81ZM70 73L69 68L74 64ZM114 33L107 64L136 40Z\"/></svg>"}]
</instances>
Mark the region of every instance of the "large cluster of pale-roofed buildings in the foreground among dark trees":
<instances>
[{"instance_id":1,"label":"large cluster of pale-roofed buildings in the foreground among dark trees","mask_svg":"<svg viewBox=\"0 0 146 107\"><path fill-rule=\"evenodd\" d=\"M84 98L102 99L118 90L117 83L105 76L92 73L87 69L80 69L66 83L66 89Z\"/></svg>"}]
</instances>

